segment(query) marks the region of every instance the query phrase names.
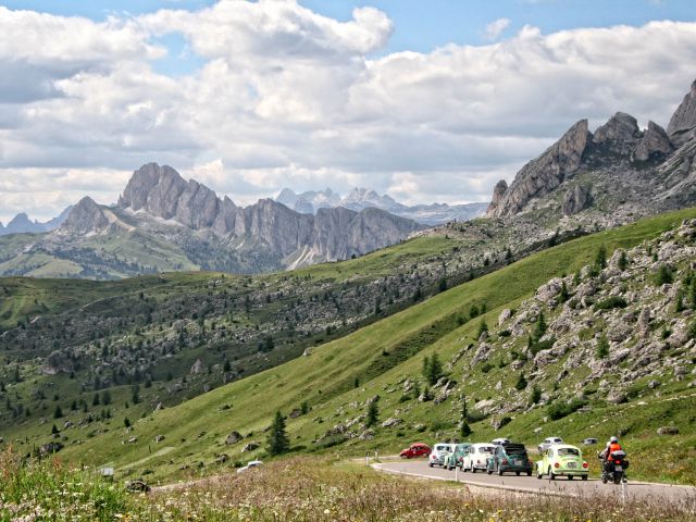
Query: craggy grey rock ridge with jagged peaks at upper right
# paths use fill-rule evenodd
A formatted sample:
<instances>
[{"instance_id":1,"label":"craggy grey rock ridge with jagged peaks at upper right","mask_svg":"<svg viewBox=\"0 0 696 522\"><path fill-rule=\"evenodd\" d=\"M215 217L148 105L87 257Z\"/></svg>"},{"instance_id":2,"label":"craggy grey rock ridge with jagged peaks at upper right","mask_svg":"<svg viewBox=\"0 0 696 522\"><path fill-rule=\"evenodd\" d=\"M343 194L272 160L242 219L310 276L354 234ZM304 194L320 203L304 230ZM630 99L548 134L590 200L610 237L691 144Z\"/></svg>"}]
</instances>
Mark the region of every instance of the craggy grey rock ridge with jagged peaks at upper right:
<instances>
[{"instance_id":1,"label":"craggy grey rock ridge with jagged peaks at upper right","mask_svg":"<svg viewBox=\"0 0 696 522\"><path fill-rule=\"evenodd\" d=\"M581 120L524 165L509 187L496 185L487 215L510 221L536 212L537 219L548 221L587 210L585 221L612 226L694 204L693 189L674 197L693 176L694 128L696 82L667 130L652 121L642 130L635 117L623 112L594 134Z\"/></svg>"}]
</instances>

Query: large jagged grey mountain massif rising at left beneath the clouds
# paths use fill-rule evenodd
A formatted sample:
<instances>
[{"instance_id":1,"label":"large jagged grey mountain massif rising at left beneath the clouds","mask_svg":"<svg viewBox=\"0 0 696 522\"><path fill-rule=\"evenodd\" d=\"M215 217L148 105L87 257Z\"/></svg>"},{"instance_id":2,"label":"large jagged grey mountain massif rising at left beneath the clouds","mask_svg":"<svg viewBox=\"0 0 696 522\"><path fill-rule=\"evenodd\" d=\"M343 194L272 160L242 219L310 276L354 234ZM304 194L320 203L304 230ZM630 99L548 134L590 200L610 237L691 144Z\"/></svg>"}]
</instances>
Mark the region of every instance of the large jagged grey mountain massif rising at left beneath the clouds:
<instances>
[{"instance_id":1,"label":"large jagged grey mountain massif rising at left beneath the clouds","mask_svg":"<svg viewBox=\"0 0 696 522\"><path fill-rule=\"evenodd\" d=\"M0 244L0 274L252 274L362 256L423 227L376 208L326 208L310 215L271 199L243 208L171 166L149 163L133 173L116 206L87 196L53 232Z\"/></svg>"}]
</instances>

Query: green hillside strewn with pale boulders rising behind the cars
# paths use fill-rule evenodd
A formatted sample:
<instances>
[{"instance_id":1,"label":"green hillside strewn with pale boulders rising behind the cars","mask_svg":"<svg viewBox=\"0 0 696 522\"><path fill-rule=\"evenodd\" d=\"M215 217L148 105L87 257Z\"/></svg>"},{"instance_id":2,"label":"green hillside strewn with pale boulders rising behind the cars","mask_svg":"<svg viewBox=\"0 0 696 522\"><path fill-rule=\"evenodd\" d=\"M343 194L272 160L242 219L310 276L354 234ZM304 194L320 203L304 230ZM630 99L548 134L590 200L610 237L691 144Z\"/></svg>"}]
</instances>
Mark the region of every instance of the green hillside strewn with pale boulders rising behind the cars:
<instances>
[{"instance_id":1,"label":"green hillside strewn with pale boulders rising behind the cars","mask_svg":"<svg viewBox=\"0 0 696 522\"><path fill-rule=\"evenodd\" d=\"M680 211L550 248L315 347L306 357L174 408L153 411L166 394L165 386L156 385L144 391L140 405L147 409L130 414L129 428L123 427L123 410L100 424L85 423L85 413L69 413L72 425L58 435L66 446L62 455L97 465L112 463L126 475L210 473L221 469L214 461L225 460L222 453L233 461L256 455L243 452L243 447L264 440L263 431L278 409L291 413L288 426L297 450L384 452L413 438L457 436L463 395L469 399L473 438L487 439L495 433L534 444L559 434L579 442L621 431L635 461L646 462L635 467L635 477L693 482L689 411L696 399L687 375L694 359L693 340L684 330L691 324L691 297L682 299L685 311L678 312L674 304L680 285L693 281L688 266L696 236L691 222L676 227L694 217L694 210ZM602 247L609 265L595 271L592 264ZM617 268L621 259L617 249L626 251L623 270ZM660 283L669 286L654 283L662 264L674 283ZM569 299L555 303L560 286L550 283L556 288L551 291L549 281L563 274L570 274L563 279ZM617 299L616 308L606 304L610 293L625 299L625 308ZM486 311L476 315L474 306ZM644 318L644 308L651 310L650 320ZM504 310L517 313L498 326ZM548 333L538 339L533 311L537 315L543 311L548 325ZM625 323L624 314L633 314L645 326L614 335L608 325ZM482 321L489 327L487 337L480 335ZM571 327L563 330L569 321ZM596 356L605 334L606 360ZM435 400L421 401L412 386L419 383L424 390L423 358L433 353L445 363L446 375L431 388ZM526 387L515 390L520 374ZM538 403L530 406L535 386L540 391ZM381 421L393 420L388 427L369 432L361 427L361 415L376 395ZM569 402L572 398L581 402ZM302 414L304 401L311 411ZM552 420L559 412L560 419ZM136 421L136 415L141 418ZM507 425L496 432L494 426L501 423ZM27 437L17 444L29 449L50 440L50 424L7 433ZM668 439L669 445L656 434L664 424L681 431ZM228 438L233 432L240 434L238 440ZM659 457L654 453L657 445ZM657 458L672 464L656 467Z\"/></svg>"}]
</instances>

